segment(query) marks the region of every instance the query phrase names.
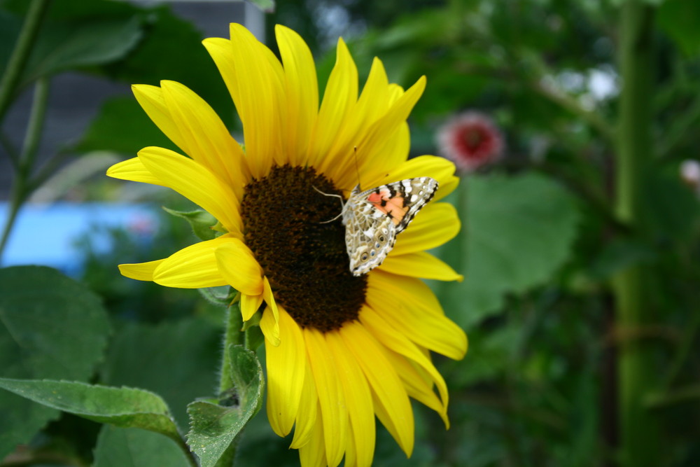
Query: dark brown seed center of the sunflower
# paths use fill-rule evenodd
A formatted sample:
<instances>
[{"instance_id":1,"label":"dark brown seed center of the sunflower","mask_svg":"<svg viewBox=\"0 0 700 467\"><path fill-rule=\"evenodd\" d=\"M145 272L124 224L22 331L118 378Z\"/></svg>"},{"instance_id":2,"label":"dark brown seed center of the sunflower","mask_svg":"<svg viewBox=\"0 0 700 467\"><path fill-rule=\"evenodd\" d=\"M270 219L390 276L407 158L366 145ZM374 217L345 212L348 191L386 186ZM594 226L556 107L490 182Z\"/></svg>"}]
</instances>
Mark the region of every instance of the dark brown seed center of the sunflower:
<instances>
[{"instance_id":1,"label":"dark brown seed center of the sunflower","mask_svg":"<svg viewBox=\"0 0 700 467\"><path fill-rule=\"evenodd\" d=\"M319 193L322 192L322 193ZM367 279L349 270L341 193L311 167L272 167L245 188L244 237L274 298L302 326L322 332L357 319Z\"/></svg>"}]
</instances>

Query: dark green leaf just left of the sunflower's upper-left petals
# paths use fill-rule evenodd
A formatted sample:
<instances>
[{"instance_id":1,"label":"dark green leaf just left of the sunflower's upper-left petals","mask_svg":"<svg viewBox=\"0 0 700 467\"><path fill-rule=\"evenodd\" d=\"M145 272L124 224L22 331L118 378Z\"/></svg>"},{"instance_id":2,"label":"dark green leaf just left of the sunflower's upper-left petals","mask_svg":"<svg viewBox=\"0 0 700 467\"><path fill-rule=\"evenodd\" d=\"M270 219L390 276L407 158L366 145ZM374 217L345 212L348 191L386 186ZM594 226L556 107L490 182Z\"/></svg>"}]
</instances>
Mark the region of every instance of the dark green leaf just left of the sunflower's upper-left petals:
<instances>
[{"instance_id":1,"label":"dark green leaf just left of the sunflower's upper-left petals","mask_svg":"<svg viewBox=\"0 0 700 467\"><path fill-rule=\"evenodd\" d=\"M113 97L102 104L75 151L113 151L135 155L146 146L178 150L151 122L136 99Z\"/></svg>"}]
</instances>

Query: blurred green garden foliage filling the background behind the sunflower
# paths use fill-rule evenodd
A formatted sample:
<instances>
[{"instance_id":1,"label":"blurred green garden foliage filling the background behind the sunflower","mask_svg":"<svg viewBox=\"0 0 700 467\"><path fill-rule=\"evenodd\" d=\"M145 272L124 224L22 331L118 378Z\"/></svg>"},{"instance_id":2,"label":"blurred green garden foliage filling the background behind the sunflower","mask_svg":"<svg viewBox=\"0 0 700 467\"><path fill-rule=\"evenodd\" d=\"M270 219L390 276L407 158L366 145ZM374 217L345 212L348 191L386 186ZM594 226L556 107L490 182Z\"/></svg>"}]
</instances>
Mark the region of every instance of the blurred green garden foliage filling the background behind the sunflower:
<instances>
[{"instance_id":1,"label":"blurred green garden foliage filling the background behind the sunflower","mask_svg":"<svg viewBox=\"0 0 700 467\"><path fill-rule=\"evenodd\" d=\"M636 191L643 215L633 222L616 204L619 173L630 170L617 157L620 92L640 78L620 66L629 4L645 12L641 27L650 39L641 46L650 57L643 70L650 92L641 103L650 118L637 128L638 138L650 141L650 159ZM27 2L4 0L0 7L5 69ZM680 162L698 158L700 148L698 2L288 0L267 15L269 38L276 22L308 41L321 85L339 34L349 40L360 80L375 55L404 86L426 74L428 88L410 122L412 155L436 153L437 127L466 109L489 114L505 134L503 160L465 174L450 198L463 233L437 253L466 279L431 284L470 337L464 361L438 361L451 391L452 427L445 432L439 417L416 405L412 459L380 429L376 464L700 465L700 210L698 187L678 174ZM172 79L237 132L228 93L200 40L167 6L55 0L13 92L66 70L125 88ZM0 118L5 111L0 106ZM79 141L54 148L43 169L29 167L34 179L21 194L45 181L52 160L79 163L98 150L126 158L144 146L171 145L135 99L111 99ZM13 148L3 151L13 157ZM85 193L116 200L125 190L133 187L99 178ZM143 193L144 200L190 208L155 193ZM0 377L154 391L174 414L176 425L167 430L187 431L186 404L216 384L223 311L195 291L118 275L118 263L163 258L193 242L187 223L159 218L161 230L148 244L123 231L110 233L110 253L81 242L84 255L76 260L85 273L78 281L44 267L0 270ZM636 292L648 316L621 326L616 281L629 270L645 274ZM31 307L18 305L28 295ZM621 349L630 344L645 351L652 375L633 391L648 416L643 435L653 441L635 447L620 436ZM149 409L153 417L158 407ZM246 428L241 465L297 465L290 440L272 433L264 412ZM0 391L0 420L0 459L8 456L0 465L187 465L165 436L102 426L9 391ZM18 443L24 447L15 449ZM649 449L647 463L630 463L629 449ZM144 457L122 459L127 450Z\"/></svg>"}]
</instances>

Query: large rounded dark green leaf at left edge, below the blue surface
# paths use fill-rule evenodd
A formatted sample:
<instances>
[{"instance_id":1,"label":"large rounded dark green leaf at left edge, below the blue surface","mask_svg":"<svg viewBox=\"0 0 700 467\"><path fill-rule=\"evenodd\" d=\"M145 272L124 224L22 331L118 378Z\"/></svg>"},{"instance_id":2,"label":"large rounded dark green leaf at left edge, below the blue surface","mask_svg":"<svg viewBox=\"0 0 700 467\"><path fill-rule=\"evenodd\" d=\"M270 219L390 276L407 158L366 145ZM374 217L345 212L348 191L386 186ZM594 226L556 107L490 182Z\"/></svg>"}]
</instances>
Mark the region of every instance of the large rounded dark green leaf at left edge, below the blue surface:
<instances>
[{"instance_id":1,"label":"large rounded dark green leaf at left edge, below the blue surface","mask_svg":"<svg viewBox=\"0 0 700 467\"><path fill-rule=\"evenodd\" d=\"M97 295L49 267L0 269L0 376L88 379L109 321ZM0 391L0 458L58 412Z\"/></svg>"}]
</instances>

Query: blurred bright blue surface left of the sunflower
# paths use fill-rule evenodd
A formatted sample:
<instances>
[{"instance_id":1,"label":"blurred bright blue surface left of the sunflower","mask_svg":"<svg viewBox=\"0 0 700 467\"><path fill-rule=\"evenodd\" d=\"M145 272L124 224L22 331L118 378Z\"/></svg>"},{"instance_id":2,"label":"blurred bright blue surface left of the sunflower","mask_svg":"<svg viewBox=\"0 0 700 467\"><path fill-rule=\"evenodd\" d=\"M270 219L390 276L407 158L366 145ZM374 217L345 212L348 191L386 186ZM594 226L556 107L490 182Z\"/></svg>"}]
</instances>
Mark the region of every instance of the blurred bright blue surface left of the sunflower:
<instances>
[{"instance_id":1,"label":"blurred bright blue surface left of the sunflower","mask_svg":"<svg viewBox=\"0 0 700 467\"><path fill-rule=\"evenodd\" d=\"M0 202L0 225L5 225L7 216L8 203ZM1 265L45 265L75 275L82 267L79 240L90 232L92 250L109 251L112 245L108 232L113 228L123 228L148 241L158 228L158 218L147 204L25 204Z\"/></svg>"}]
</instances>

